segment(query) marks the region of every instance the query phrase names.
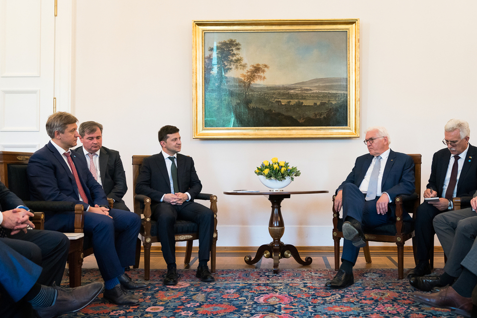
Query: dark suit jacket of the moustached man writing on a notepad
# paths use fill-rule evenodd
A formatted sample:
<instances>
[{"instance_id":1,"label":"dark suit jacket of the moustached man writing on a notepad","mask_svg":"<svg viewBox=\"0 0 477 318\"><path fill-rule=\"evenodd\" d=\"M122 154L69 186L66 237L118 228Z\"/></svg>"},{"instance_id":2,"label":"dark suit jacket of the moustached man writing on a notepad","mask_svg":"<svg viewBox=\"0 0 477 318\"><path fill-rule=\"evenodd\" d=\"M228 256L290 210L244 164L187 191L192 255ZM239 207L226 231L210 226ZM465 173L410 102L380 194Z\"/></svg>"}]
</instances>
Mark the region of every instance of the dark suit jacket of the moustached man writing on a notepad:
<instances>
[{"instance_id":1,"label":"dark suit jacket of the moustached man writing on a notepad","mask_svg":"<svg viewBox=\"0 0 477 318\"><path fill-rule=\"evenodd\" d=\"M448 148L441 149L432 156L431 177L429 178L427 188L432 187L432 190L437 191L437 196L439 197L442 195L442 188L444 187L444 179L446 178L450 159L451 152ZM476 192L476 189L477 147L469 144L467 157L464 158L464 165L462 166L457 182L457 197L467 197L467 201L469 201ZM462 201L464 200L465 199L462 199Z\"/></svg>"}]
</instances>

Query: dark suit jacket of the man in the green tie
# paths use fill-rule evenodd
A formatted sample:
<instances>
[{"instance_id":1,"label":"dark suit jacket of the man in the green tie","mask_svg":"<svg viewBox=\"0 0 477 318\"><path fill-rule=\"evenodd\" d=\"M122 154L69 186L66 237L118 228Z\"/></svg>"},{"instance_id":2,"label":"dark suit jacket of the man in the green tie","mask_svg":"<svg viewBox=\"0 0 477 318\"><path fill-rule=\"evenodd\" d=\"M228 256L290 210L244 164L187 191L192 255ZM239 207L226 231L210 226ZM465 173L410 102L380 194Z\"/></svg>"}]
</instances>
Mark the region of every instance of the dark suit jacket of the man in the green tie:
<instances>
[{"instance_id":1,"label":"dark suit jacket of the man in the green tie","mask_svg":"<svg viewBox=\"0 0 477 318\"><path fill-rule=\"evenodd\" d=\"M171 164L170 160L168 164ZM189 192L192 202L202 190L202 183L194 168L194 160L189 156L177 154L177 179L179 191ZM136 179L136 193L144 194L151 200L160 202L162 196L171 193L171 183L162 153L144 158Z\"/></svg>"}]
</instances>

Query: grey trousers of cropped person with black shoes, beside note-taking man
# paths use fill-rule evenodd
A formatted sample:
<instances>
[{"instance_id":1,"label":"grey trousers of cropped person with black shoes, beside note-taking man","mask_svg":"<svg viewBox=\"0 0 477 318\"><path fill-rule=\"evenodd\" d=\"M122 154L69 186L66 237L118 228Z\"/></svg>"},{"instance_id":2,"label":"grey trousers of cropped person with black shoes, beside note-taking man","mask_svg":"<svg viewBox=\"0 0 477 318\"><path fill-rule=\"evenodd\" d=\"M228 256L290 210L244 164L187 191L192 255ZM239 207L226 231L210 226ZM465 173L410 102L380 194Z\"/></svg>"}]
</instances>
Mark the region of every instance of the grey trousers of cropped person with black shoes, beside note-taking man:
<instances>
[{"instance_id":1,"label":"grey trousers of cropped person with black shoes, beside note-taking man","mask_svg":"<svg viewBox=\"0 0 477 318\"><path fill-rule=\"evenodd\" d=\"M432 223L442 249L447 255L444 271L451 276L458 277L462 273L461 262L475 245L477 213L471 208L445 212L437 215ZM473 267L476 267L476 263L477 261ZM473 268L468 269L475 272Z\"/></svg>"}]
</instances>

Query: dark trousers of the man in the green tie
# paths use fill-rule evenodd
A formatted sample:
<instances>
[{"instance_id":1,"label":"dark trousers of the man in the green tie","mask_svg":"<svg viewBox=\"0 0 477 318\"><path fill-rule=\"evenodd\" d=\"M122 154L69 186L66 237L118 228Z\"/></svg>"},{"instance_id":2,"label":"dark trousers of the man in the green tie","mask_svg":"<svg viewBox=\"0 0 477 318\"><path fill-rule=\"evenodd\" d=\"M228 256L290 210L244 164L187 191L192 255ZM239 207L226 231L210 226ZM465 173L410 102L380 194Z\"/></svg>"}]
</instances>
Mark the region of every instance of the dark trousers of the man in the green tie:
<instances>
[{"instance_id":1,"label":"dark trousers of the man in the green tie","mask_svg":"<svg viewBox=\"0 0 477 318\"><path fill-rule=\"evenodd\" d=\"M152 207L152 217L158 223L158 238L166 264L176 262L174 224L177 219L191 221L199 226L199 261L208 261L214 234L214 213L196 202L172 205L160 202Z\"/></svg>"}]
</instances>

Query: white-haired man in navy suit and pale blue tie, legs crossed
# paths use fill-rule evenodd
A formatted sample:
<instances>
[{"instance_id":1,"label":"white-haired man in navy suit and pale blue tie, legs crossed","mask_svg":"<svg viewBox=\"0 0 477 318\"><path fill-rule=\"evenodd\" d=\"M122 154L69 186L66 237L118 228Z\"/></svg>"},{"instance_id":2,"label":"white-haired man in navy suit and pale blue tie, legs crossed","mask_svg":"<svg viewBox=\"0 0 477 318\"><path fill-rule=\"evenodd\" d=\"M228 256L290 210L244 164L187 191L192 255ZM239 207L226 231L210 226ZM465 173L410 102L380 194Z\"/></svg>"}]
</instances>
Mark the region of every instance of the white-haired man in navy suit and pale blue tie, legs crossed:
<instances>
[{"instance_id":1,"label":"white-haired man in navy suit and pale blue tie, legs crossed","mask_svg":"<svg viewBox=\"0 0 477 318\"><path fill-rule=\"evenodd\" d=\"M394 221L394 199L414 193L414 161L389 148L385 127L370 127L364 140L369 154L358 157L346 180L336 190L335 210L343 207L343 254L341 267L326 287L340 289L354 283L353 266L366 245L363 228ZM409 219L406 213L404 219Z\"/></svg>"}]
</instances>

